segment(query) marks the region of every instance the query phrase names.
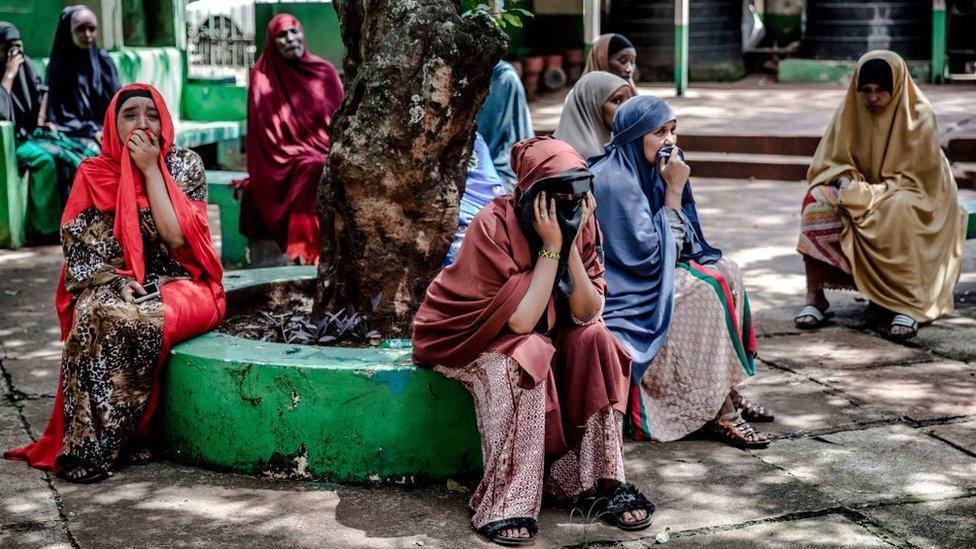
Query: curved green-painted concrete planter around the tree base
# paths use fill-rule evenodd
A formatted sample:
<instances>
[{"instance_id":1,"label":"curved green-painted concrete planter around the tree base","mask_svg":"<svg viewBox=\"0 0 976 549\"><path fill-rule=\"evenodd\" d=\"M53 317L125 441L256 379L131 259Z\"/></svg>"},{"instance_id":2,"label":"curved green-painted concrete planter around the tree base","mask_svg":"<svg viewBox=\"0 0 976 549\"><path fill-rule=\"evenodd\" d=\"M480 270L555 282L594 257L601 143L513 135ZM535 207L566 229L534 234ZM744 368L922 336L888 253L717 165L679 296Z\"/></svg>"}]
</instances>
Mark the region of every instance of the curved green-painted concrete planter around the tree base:
<instances>
[{"instance_id":1,"label":"curved green-painted concrete planter around the tree base","mask_svg":"<svg viewBox=\"0 0 976 549\"><path fill-rule=\"evenodd\" d=\"M231 271L235 294L314 280L310 267ZM179 461L245 474L412 483L476 474L471 397L408 351L210 333L177 345L159 418Z\"/></svg>"}]
</instances>

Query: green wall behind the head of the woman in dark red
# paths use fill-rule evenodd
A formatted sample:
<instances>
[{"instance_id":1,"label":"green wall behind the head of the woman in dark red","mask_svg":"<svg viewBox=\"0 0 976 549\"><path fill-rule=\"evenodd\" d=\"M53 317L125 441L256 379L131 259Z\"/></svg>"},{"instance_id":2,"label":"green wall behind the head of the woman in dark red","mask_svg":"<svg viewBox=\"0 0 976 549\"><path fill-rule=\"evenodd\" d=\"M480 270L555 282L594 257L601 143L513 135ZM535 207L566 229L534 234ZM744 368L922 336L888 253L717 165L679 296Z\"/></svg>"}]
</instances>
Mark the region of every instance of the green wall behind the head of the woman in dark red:
<instances>
[{"instance_id":1,"label":"green wall behind the head of the woman in dark red","mask_svg":"<svg viewBox=\"0 0 976 549\"><path fill-rule=\"evenodd\" d=\"M288 2L284 4L257 2L254 4L254 44L256 56L264 49L264 35L268 21L279 13L290 13L298 18L305 29L308 49L327 59L342 72L342 58L346 48L339 32L339 16L332 2Z\"/></svg>"}]
</instances>

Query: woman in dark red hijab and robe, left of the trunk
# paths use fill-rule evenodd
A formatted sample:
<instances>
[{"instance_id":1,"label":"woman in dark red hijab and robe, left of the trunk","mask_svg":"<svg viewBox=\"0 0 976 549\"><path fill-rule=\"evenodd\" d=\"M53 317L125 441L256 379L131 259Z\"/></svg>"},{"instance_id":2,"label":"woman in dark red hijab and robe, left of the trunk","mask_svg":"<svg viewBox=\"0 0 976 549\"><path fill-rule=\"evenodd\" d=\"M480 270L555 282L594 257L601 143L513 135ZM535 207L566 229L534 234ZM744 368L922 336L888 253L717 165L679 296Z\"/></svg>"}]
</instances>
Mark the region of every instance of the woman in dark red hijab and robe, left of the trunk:
<instances>
[{"instance_id":1,"label":"woman in dark red hijab and robe, left of the trunk","mask_svg":"<svg viewBox=\"0 0 976 549\"><path fill-rule=\"evenodd\" d=\"M241 233L274 240L292 261L318 263L316 190L342 81L331 63L308 52L298 19L282 13L268 23L247 93Z\"/></svg>"}]
</instances>

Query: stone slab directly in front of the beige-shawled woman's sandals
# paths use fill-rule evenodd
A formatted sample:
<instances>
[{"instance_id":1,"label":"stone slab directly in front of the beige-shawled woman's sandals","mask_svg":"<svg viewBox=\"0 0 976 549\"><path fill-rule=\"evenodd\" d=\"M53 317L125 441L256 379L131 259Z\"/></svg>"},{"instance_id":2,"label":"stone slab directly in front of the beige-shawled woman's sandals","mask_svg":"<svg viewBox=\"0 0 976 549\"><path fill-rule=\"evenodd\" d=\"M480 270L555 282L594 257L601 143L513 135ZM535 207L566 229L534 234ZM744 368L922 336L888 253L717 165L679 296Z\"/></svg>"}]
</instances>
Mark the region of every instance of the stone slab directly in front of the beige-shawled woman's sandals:
<instances>
[{"instance_id":1,"label":"stone slab directly in front of the beige-shawled woman's sandals","mask_svg":"<svg viewBox=\"0 0 976 549\"><path fill-rule=\"evenodd\" d=\"M759 347L759 358L803 373L911 364L933 359L921 349L839 326L800 335L766 338Z\"/></svg>"}]
</instances>

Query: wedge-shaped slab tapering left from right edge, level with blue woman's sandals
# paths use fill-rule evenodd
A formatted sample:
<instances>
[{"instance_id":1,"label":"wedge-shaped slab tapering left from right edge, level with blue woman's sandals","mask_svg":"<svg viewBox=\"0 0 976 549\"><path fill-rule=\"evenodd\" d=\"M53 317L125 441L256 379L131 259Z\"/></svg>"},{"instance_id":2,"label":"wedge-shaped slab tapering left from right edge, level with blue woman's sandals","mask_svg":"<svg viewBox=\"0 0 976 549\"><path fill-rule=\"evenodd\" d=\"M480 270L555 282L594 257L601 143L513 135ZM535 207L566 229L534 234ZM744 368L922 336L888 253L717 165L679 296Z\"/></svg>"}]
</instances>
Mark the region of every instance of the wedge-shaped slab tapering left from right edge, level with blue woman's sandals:
<instances>
[{"instance_id":1,"label":"wedge-shaped slab tapering left from right edge, level with blue woman's sandals","mask_svg":"<svg viewBox=\"0 0 976 549\"><path fill-rule=\"evenodd\" d=\"M976 366L962 362L835 370L816 376L858 402L916 421L976 414Z\"/></svg>"}]
</instances>

